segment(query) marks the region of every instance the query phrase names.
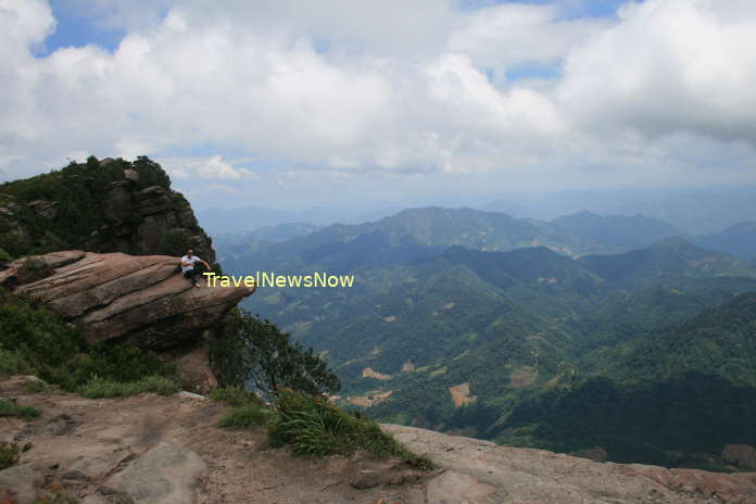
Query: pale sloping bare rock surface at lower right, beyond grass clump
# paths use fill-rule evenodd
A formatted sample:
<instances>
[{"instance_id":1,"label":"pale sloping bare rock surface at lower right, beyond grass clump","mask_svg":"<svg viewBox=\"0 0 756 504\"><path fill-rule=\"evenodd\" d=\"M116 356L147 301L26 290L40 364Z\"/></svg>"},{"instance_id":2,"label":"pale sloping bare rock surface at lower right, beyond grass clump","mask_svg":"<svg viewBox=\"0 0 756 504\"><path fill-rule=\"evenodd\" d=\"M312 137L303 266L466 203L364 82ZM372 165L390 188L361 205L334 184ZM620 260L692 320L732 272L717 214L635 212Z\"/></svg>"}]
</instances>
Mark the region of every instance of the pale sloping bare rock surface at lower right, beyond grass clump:
<instances>
[{"instance_id":1,"label":"pale sloping bare rock surface at lower right, beyond grass clump","mask_svg":"<svg viewBox=\"0 0 756 504\"><path fill-rule=\"evenodd\" d=\"M756 503L756 472L602 464L413 427L383 428L446 469L429 483L429 504Z\"/></svg>"}]
</instances>

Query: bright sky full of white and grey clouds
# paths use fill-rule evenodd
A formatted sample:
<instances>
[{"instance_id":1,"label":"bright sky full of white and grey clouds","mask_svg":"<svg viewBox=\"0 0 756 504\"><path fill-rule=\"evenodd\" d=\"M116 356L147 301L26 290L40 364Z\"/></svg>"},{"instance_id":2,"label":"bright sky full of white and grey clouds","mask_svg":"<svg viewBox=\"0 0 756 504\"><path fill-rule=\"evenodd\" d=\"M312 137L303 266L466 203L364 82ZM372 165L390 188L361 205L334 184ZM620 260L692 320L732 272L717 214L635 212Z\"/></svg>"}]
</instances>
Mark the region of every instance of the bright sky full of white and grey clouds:
<instances>
[{"instance_id":1,"label":"bright sky full of white and grey clouds","mask_svg":"<svg viewBox=\"0 0 756 504\"><path fill-rule=\"evenodd\" d=\"M0 180L196 207L756 184L754 0L0 0Z\"/></svg>"}]
</instances>

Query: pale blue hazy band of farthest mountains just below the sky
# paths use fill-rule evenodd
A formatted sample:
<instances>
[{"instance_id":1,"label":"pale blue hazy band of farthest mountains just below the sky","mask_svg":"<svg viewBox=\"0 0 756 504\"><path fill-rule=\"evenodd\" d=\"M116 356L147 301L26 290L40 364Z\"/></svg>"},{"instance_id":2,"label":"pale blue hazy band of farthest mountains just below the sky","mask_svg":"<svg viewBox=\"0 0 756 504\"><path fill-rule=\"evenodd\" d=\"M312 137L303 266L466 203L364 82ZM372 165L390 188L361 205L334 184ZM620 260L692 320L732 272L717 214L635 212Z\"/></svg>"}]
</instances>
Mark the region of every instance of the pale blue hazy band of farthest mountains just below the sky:
<instances>
[{"instance_id":1,"label":"pale blue hazy band of farthest mountains just below the sky","mask_svg":"<svg viewBox=\"0 0 756 504\"><path fill-rule=\"evenodd\" d=\"M553 220L591 212L598 215L645 215L669 223L680 232L706 236L744 222L756 222L756 187L698 189L621 189L582 191L505 192L500 194L415 196L411 200L355 202L294 211L260 205L239 209L206 207L198 212L212 234L249 231L264 226L308 223L318 226L360 224L399 213L407 207L470 207L506 213L518 218Z\"/></svg>"}]
</instances>

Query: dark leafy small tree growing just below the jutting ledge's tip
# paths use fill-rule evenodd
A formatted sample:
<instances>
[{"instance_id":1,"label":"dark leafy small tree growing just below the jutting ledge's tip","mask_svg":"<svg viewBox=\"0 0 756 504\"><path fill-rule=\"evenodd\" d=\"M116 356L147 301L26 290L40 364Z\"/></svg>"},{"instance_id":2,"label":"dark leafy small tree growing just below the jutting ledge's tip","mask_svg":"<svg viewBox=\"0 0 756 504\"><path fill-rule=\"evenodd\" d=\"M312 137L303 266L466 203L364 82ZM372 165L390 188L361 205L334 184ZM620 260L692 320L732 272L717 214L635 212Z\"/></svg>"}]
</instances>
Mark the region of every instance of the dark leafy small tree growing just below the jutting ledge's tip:
<instances>
[{"instance_id":1,"label":"dark leafy small tree growing just below the jutting ledge's tip","mask_svg":"<svg viewBox=\"0 0 756 504\"><path fill-rule=\"evenodd\" d=\"M222 386L250 385L272 402L284 389L315 395L341 388L312 348L305 350L269 320L243 310L229 318L226 335L210 344L211 364Z\"/></svg>"}]
</instances>

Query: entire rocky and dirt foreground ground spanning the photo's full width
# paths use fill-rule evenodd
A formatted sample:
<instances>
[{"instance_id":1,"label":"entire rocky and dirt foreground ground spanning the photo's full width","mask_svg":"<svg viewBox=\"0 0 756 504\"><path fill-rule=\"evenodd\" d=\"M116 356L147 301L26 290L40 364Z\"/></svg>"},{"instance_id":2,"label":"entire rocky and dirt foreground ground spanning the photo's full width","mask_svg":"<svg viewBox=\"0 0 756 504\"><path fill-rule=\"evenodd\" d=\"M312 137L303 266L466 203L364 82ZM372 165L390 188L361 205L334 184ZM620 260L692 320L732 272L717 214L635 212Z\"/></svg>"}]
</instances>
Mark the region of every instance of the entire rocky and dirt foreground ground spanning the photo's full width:
<instances>
[{"instance_id":1,"label":"entire rocky and dirt foreground ground spanning the photo's full width","mask_svg":"<svg viewBox=\"0 0 756 504\"><path fill-rule=\"evenodd\" d=\"M0 471L3 504L55 490L87 504L756 503L753 472L600 464L401 426L385 428L441 469L361 454L293 456L267 446L260 429L218 428L227 406L200 395L89 400L30 393L28 380L0 382L0 398L42 414L0 418L0 440L32 445Z\"/></svg>"}]
</instances>

